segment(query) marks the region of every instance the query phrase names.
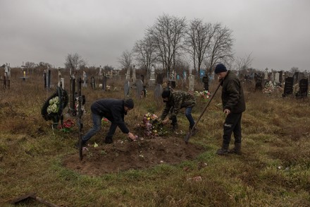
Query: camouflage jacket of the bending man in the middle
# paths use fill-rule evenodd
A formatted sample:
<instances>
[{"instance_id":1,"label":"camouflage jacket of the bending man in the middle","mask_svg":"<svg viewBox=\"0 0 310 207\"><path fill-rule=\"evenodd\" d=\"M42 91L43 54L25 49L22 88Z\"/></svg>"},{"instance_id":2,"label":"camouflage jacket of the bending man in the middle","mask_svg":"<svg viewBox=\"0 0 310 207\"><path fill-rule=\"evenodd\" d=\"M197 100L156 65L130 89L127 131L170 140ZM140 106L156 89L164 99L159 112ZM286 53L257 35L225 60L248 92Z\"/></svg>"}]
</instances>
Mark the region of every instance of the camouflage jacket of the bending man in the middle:
<instances>
[{"instance_id":1,"label":"camouflage jacket of the bending man in the middle","mask_svg":"<svg viewBox=\"0 0 310 207\"><path fill-rule=\"evenodd\" d=\"M165 119L169 111L171 111L171 116L169 119L173 119L178 115L181 108L194 107L196 105L196 100L194 95L185 91L171 91L168 102L166 102L166 107L161 114L161 119Z\"/></svg>"}]
</instances>

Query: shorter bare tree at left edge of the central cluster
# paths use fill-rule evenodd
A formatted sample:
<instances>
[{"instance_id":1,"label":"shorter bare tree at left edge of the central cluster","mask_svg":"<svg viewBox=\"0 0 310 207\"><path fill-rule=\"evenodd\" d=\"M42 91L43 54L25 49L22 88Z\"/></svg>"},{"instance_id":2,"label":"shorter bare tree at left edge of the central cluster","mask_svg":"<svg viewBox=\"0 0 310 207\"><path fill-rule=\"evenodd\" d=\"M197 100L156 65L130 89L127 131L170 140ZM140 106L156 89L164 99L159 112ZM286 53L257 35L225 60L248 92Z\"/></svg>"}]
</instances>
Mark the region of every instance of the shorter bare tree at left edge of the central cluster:
<instances>
[{"instance_id":1,"label":"shorter bare tree at left edge of the central cluster","mask_svg":"<svg viewBox=\"0 0 310 207\"><path fill-rule=\"evenodd\" d=\"M151 64L156 62L156 47L151 37L146 35L143 40L138 40L133 48L137 64L148 73Z\"/></svg>"}]
</instances>

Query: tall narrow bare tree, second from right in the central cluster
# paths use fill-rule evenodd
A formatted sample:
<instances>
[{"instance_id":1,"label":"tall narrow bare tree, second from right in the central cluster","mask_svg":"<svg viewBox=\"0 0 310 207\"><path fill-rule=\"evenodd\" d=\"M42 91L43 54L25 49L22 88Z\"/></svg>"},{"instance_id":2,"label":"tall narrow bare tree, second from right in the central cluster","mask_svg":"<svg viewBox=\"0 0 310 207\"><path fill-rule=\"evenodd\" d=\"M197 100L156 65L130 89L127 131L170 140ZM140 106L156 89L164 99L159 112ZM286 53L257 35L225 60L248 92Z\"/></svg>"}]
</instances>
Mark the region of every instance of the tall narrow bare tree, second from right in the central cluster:
<instances>
[{"instance_id":1,"label":"tall narrow bare tree, second from right in the central cluster","mask_svg":"<svg viewBox=\"0 0 310 207\"><path fill-rule=\"evenodd\" d=\"M212 30L211 23L203 23L201 19L194 19L190 22L187 30L186 45L187 51L192 57L194 70L200 76L202 61L206 58L207 49L211 46L211 40L215 30Z\"/></svg>"}]
</instances>

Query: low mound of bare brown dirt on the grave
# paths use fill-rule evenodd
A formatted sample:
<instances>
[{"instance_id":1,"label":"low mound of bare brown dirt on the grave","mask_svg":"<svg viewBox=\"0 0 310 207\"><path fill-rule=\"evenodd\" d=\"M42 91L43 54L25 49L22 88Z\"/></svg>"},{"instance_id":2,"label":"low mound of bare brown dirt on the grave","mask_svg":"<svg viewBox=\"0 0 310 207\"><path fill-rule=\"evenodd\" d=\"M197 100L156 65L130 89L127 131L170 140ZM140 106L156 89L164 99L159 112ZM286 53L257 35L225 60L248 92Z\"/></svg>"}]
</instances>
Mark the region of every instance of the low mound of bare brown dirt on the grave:
<instances>
[{"instance_id":1,"label":"low mound of bare brown dirt on the grave","mask_svg":"<svg viewBox=\"0 0 310 207\"><path fill-rule=\"evenodd\" d=\"M98 147L87 146L83 160L79 153L69 155L63 165L85 175L103 175L131 169L144 169L161 163L176 164L192 160L205 150L182 138L152 138L137 141L115 141Z\"/></svg>"}]
</instances>

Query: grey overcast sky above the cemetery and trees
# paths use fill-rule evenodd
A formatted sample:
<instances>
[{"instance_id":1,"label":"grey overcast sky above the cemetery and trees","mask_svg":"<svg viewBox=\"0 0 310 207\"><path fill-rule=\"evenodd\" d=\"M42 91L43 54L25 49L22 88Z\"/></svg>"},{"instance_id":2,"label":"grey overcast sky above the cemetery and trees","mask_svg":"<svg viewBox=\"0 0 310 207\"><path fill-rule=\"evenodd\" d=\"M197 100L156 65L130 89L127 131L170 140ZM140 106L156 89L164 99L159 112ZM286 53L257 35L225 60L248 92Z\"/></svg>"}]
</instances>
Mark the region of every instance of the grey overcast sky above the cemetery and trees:
<instances>
[{"instance_id":1,"label":"grey overcast sky above the cemetery and trees","mask_svg":"<svg viewBox=\"0 0 310 207\"><path fill-rule=\"evenodd\" d=\"M0 64L47 62L68 54L119 68L118 57L163 14L222 23L235 57L254 69L310 71L309 0L0 0Z\"/></svg>"}]
</instances>

